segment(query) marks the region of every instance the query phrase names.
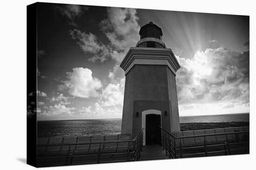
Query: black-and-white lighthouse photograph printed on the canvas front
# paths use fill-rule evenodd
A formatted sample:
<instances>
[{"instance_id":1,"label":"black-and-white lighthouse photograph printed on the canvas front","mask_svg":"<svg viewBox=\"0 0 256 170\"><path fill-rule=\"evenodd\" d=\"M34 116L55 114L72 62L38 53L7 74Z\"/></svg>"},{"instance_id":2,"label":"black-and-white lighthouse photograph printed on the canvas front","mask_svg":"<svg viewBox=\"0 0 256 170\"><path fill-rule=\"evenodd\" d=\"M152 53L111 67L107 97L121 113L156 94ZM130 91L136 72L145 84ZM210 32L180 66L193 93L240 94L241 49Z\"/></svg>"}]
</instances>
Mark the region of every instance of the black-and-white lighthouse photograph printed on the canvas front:
<instances>
[{"instance_id":1,"label":"black-and-white lighthouse photograph printed on the canvas front","mask_svg":"<svg viewBox=\"0 0 256 170\"><path fill-rule=\"evenodd\" d=\"M40 2L27 11L34 166L249 154L249 16Z\"/></svg>"}]
</instances>

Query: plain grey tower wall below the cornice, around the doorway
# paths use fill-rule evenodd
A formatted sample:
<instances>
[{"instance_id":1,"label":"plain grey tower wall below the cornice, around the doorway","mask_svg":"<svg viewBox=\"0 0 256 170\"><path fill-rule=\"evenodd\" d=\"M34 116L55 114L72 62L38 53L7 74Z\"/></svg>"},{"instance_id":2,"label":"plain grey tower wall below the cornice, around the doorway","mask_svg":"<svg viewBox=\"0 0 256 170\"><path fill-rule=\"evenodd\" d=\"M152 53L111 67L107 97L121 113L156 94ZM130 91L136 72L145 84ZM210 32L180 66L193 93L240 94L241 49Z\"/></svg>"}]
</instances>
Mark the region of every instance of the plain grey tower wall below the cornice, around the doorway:
<instances>
[{"instance_id":1,"label":"plain grey tower wall below the cornice, around the doorway","mask_svg":"<svg viewBox=\"0 0 256 170\"><path fill-rule=\"evenodd\" d=\"M135 65L126 75L121 133L134 138L141 113L149 109L161 111L168 132L180 130L175 75L166 65Z\"/></svg>"}]
</instances>

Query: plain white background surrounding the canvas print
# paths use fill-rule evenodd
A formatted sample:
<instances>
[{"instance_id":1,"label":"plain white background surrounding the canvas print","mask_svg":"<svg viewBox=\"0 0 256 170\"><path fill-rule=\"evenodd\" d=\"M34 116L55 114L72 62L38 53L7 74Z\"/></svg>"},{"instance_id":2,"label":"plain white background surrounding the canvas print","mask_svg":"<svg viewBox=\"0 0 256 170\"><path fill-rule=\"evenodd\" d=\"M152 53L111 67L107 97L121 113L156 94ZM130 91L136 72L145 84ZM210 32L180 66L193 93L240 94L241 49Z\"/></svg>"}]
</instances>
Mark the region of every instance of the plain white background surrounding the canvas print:
<instances>
[{"instance_id":1,"label":"plain white background surrounding the canvas print","mask_svg":"<svg viewBox=\"0 0 256 170\"><path fill-rule=\"evenodd\" d=\"M0 169L30 170L26 164L26 6L34 0L2 0L0 4ZM121 6L172 11L250 15L250 154L115 164L43 168L94 170L245 170L253 169L255 151L255 30L254 0L42 0L95 6ZM253 145L254 144L254 145Z\"/></svg>"}]
</instances>

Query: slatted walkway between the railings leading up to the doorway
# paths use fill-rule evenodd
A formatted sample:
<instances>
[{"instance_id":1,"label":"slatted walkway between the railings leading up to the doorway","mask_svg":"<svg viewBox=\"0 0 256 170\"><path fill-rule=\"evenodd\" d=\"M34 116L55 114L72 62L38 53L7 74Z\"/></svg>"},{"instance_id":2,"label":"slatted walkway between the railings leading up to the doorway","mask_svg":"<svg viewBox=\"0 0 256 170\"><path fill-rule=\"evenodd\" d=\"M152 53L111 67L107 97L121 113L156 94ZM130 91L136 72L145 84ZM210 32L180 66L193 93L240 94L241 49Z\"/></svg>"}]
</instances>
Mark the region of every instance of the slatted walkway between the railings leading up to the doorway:
<instances>
[{"instance_id":1,"label":"slatted walkway between the railings leading up to the doorway","mask_svg":"<svg viewBox=\"0 0 256 170\"><path fill-rule=\"evenodd\" d=\"M168 158L169 157L165 155L165 150L162 149L161 145L145 145L142 147L141 157L139 158L139 161L159 160Z\"/></svg>"}]
</instances>

